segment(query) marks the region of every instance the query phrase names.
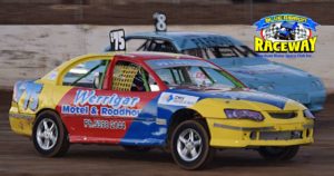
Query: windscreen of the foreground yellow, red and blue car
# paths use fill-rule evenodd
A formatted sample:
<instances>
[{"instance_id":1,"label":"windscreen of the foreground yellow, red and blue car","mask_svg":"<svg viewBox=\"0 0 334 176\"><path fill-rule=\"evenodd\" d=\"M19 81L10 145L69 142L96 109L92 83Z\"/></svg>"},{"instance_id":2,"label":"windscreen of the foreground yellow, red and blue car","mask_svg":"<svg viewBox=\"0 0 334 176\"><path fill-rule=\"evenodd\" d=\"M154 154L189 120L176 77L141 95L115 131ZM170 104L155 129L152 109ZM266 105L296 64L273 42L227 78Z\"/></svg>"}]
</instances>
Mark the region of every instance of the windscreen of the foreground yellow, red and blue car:
<instances>
[{"instance_id":1,"label":"windscreen of the foreground yellow, red and blue car","mask_svg":"<svg viewBox=\"0 0 334 176\"><path fill-rule=\"evenodd\" d=\"M169 88L197 86L235 88L233 78L204 60L159 59L146 61Z\"/></svg>"}]
</instances>

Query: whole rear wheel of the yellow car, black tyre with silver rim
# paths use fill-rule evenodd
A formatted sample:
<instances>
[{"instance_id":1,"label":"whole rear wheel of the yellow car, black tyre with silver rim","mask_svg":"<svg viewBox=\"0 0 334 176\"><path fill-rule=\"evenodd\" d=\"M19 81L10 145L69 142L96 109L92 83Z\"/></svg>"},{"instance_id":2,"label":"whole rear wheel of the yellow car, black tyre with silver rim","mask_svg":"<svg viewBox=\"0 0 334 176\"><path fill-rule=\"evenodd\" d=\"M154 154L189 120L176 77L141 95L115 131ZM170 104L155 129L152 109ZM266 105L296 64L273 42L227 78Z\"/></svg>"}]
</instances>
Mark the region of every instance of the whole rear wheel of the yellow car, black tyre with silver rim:
<instances>
[{"instance_id":1,"label":"whole rear wheel of the yellow car, black tyre with silver rim","mask_svg":"<svg viewBox=\"0 0 334 176\"><path fill-rule=\"evenodd\" d=\"M35 149L42 156L62 156L69 149L68 133L53 111L42 111L33 125L32 141Z\"/></svg>"}]
</instances>

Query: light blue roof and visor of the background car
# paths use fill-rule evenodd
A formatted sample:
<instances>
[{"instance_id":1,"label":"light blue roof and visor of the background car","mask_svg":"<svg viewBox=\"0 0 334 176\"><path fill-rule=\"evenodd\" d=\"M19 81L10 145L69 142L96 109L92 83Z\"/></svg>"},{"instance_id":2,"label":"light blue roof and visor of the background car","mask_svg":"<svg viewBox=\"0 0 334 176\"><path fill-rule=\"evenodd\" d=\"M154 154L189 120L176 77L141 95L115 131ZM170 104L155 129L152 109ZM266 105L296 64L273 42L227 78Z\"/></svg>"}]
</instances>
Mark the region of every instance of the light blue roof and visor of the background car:
<instances>
[{"instance_id":1,"label":"light blue roof and visor of the background car","mask_svg":"<svg viewBox=\"0 0 334 176\"><path fill-rule=\"evenodd\" d=\"M169 40L174 43L178 51L214 46L244 46L240 41L229 36L209 32L136 32L128 35L126 38L154 38Z\"/></svg>"}]
</instances>

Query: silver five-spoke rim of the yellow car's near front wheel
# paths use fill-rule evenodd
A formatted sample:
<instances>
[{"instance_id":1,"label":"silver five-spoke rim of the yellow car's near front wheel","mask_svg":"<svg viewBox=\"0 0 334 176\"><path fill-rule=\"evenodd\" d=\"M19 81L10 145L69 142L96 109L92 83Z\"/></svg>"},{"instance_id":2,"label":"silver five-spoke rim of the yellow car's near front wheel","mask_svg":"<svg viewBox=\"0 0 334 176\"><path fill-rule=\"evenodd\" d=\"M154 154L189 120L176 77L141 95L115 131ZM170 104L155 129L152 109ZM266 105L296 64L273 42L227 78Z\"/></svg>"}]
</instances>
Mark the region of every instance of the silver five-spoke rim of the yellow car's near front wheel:
<instances>
[{"instance_id":1,"label":"silver five-spoke rim of the yellow car's near front wheel","mask_svg":"<svg viewBox=\"0 0 334 176\"><path fill-rule=\"evenodd\" d=\"M185 129L178 136L177 153L183 160L193 162L197 159L202 148L202 137L195 129Z\"/></svg>"}]
</instances>

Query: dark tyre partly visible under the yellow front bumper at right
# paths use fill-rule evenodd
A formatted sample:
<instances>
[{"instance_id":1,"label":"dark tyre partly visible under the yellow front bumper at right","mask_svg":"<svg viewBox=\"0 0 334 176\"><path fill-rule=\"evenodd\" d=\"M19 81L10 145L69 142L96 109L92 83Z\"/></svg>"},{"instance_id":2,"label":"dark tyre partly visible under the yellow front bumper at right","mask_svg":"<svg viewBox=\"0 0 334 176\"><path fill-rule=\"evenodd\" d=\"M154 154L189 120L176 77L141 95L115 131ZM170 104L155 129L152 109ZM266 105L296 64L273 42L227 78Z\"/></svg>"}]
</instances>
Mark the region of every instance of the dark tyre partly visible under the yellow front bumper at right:
<instances>
[{"instance_id":1,"label":"dark tyre partly visible under the yellow front bumper at right","mask_svg":"<svg viewBox=\"0 0 334 176\"><path fill-rule=\"evenodd\" d=\"M259 155L266 160L289 160L297 155L299 146L259 147Z\"/></svg>"}]
</instances>

